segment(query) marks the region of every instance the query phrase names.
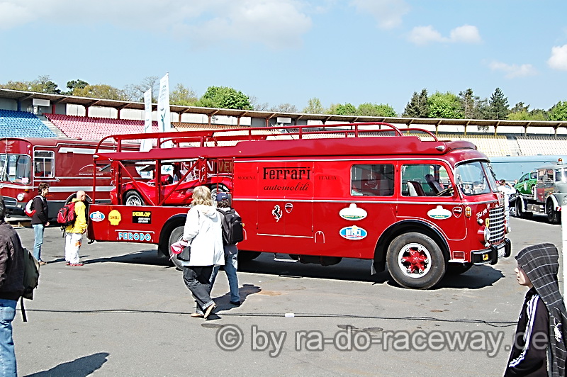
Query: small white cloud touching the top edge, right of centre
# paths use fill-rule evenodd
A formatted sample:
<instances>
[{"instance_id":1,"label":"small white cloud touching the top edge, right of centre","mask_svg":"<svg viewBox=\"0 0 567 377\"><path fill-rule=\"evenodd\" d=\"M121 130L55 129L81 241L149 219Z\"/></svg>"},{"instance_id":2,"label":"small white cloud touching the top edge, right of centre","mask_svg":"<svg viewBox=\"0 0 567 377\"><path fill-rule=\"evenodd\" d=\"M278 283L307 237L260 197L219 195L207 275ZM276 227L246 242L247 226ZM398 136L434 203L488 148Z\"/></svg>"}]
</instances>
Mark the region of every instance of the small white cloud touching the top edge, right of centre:
<instances>
[{"instance_id":1,"label":"small white cloud touching the top edge, right of centre","mask_svg":"<svg viewBox=\"0 0 567 377\"><path fill-rule=\"evenodd\" d=\"M410 11L404 0L352 0L350 5L360 13L370 13L383 29L400 26L402 16Z\"/></svg>"}]
</instances>

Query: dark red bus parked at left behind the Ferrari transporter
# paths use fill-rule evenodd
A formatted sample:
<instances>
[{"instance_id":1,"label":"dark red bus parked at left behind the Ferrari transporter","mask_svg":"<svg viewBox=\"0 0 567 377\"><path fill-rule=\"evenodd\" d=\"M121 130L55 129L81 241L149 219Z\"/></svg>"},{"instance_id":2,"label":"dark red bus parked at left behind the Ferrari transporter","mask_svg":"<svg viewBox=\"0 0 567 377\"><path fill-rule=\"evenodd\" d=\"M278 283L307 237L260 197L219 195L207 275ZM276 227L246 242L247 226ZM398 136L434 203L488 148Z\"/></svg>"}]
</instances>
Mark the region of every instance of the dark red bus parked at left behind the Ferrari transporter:
<instances>
[{"instance_id":1,"label":"dark red bus parked at left behind the Ferrari transporter","mask_svg":"<svg viewBox=\"0 0 567 377\"><path fill-rule=\"evenodd\" d=\"M99 142L75 139L43 139L7 137L0 139L0 193L4 196L6 213L24 215L26 203L38 194L38 184L50 185L47 196L50 218L79 190L88 200L93 198L93 179L99 199L109 202L111 186L109 170L93 171L93 154ZM111 152L110 142L99 150ZM139 146L123 148L137 150ZM95 174L94 174L95 173Z\"/></svg>"}]
</instances>

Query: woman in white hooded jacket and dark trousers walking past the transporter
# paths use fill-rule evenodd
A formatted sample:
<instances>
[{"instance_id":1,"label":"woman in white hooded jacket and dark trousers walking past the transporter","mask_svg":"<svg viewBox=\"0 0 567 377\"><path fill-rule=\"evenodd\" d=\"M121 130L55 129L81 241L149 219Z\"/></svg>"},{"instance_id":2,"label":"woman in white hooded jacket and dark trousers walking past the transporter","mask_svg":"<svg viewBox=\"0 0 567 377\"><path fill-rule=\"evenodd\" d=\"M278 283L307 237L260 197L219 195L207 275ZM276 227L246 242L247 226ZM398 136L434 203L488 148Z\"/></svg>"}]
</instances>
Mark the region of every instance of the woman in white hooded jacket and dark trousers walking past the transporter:
<instances>
[{"instance_id":1,"label":"woman in white hooded jacket and dark trousers walking past the transporter","mask_svg":"<svg viewBox=\"0 0 567 377\"><path fill-rule=\"evenodd\" d=\"M215 309L215 302L210 298L209 282L213 266L225 264L222 219L206 186L195 188L191 205L183 230L183 240L191 245L191 258L181 265L185 285L197 303L196 313L191 317L206 318Z\"/></svg>"}]
</instances>

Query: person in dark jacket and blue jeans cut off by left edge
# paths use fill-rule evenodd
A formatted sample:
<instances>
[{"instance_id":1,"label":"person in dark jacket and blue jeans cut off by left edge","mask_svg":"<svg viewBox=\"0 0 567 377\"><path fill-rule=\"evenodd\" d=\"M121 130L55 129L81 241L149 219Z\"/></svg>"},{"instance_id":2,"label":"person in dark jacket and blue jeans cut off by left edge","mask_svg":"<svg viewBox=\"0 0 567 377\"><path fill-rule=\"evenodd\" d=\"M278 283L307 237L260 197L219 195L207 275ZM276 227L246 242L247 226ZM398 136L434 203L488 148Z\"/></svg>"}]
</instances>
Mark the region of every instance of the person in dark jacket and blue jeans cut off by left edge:
<instances>
[{"instance_id":1,"label":"person in dark jacket and blue jeans cut off by left edge","mask_svg":"<svg viewBox=\"0 0 567 377\"><path fill-rule=\"evenodd\" d=\"M12 321L23 293L23 248L16 230L4 222L5 215L0 197L0 375L17 376Z\"/></svg>"}]
</instances>

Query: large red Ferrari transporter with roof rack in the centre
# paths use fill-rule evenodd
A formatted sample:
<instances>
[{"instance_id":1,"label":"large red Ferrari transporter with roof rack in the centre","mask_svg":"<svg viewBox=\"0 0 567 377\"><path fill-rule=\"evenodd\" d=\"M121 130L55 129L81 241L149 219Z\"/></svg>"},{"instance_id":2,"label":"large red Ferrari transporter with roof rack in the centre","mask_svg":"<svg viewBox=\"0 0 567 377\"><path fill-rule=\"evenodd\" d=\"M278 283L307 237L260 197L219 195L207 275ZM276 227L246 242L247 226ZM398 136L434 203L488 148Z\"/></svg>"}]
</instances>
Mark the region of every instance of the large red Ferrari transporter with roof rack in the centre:
<instances>
[{"instance_id":1,"label":"large red Ferrari transporter with roof rack in the centre","mask_svg":"<svg viewBox=\"0 0 567 377\"><path fill-rule=\"evenodd\" d=\"M159 167L198 159L225 167L233 206L245 223L241 259L261 252L322 265L368 259L373 272L388 266L400 286L430 288L446 273L510 255L503 196L488 157L470 142L437 140L425 130L403 133L388 123L275 130L279 137L269 137L266 128L242 128L241 135L154 134L178 147L97 152L95 159L113 161L116 181L132 163ZM119 143L129 137L144 136L114 136ZM118 203L123 194L117 193ZM189 208L163 206L166 200L154 206L90 206L89 238L158 244L169 255Z\"/></svg>"}]
</instances>

